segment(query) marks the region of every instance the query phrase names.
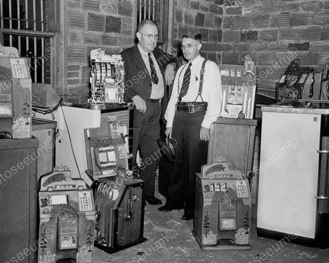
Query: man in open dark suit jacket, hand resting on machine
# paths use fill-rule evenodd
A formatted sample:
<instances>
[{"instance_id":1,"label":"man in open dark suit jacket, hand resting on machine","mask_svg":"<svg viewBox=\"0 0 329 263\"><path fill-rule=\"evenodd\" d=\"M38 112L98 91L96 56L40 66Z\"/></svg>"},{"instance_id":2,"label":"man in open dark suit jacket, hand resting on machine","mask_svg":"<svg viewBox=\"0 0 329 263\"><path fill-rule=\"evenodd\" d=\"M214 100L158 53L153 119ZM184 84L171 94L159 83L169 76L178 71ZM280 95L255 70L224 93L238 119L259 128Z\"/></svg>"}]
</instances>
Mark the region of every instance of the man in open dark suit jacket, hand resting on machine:
<instances>
[{"instance_id":1,"label":"man in open dark suit jacket, hand resting on machine","mask_svg":"<svg viewBox=\"0 0 329 263\"><path fill-rule=\"evenodd\" d=\"M135 175L139 171L136 164L139 149L145 200L151 205L160 205L160 199L154 197L156 167L160 158L157 142L160 138L159 120L167 106L168 96L164 89L173 81L176 59L156 47L158 27L154 21L141 21L136 36L138 45L121 52L125 63L125 99L134 104L132 171Z\"/></svg>"}]
</instances>

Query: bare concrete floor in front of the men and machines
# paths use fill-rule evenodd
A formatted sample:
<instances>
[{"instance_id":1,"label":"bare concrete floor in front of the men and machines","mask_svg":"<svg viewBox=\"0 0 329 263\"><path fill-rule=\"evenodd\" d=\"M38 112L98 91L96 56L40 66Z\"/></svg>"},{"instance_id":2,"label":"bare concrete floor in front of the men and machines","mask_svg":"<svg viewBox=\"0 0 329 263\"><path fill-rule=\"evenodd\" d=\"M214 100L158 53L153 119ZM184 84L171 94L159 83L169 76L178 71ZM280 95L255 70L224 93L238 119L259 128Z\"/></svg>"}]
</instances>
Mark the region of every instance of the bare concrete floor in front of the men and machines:
<instances>
[{"instance_id":1,"label":"bare concrete floor in front of the men and machines","mask_svg":"<svg viewBox=\"0 0 329 263\"><path fill-rule=\"evenodd\" d=\"M164 197L156 197L165 202ZM256 236L252 221L252 249L245 251L203 251L191 233L193 221L182 221L183 210L158 211L160 205L145 206L143 242L117 253L108 254L95 247L93 263L182 263L182 262L300 262L329 263L329 249L294 245Z\"/></svg>"}]
</instances>

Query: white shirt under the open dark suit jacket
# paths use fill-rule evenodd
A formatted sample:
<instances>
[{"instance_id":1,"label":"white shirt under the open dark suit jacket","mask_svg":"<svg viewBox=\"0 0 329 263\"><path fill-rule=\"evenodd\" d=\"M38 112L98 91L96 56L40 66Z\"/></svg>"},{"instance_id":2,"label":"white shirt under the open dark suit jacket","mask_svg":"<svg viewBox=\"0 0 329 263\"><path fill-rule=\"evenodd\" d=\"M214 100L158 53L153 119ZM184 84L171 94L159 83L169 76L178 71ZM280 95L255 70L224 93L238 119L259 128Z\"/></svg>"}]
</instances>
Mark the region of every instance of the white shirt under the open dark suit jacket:
<instances>
[{"instance_id":1,"label":"white shirt under the open dark suit jacket","mask_svg":"<svg viewBox=\"0 0 329 263\"><path fill-rule=\"evenodd\" d=\"M151 77L151 68L149 66L149 54L141 47L139 43L137 47L139 49L139 52L141 52L142 58L147 67L147 71L149 71L149 77ZM151 52L151 60L153 61L154 67L156 68L156 75L158 76L159 82L158 84L154 84L152 82L151 96L149 99L162 99L164 93L163 77L158 62L156 62L156 58L154 58L153 52Z\"/></svg>"}]
</instances>

